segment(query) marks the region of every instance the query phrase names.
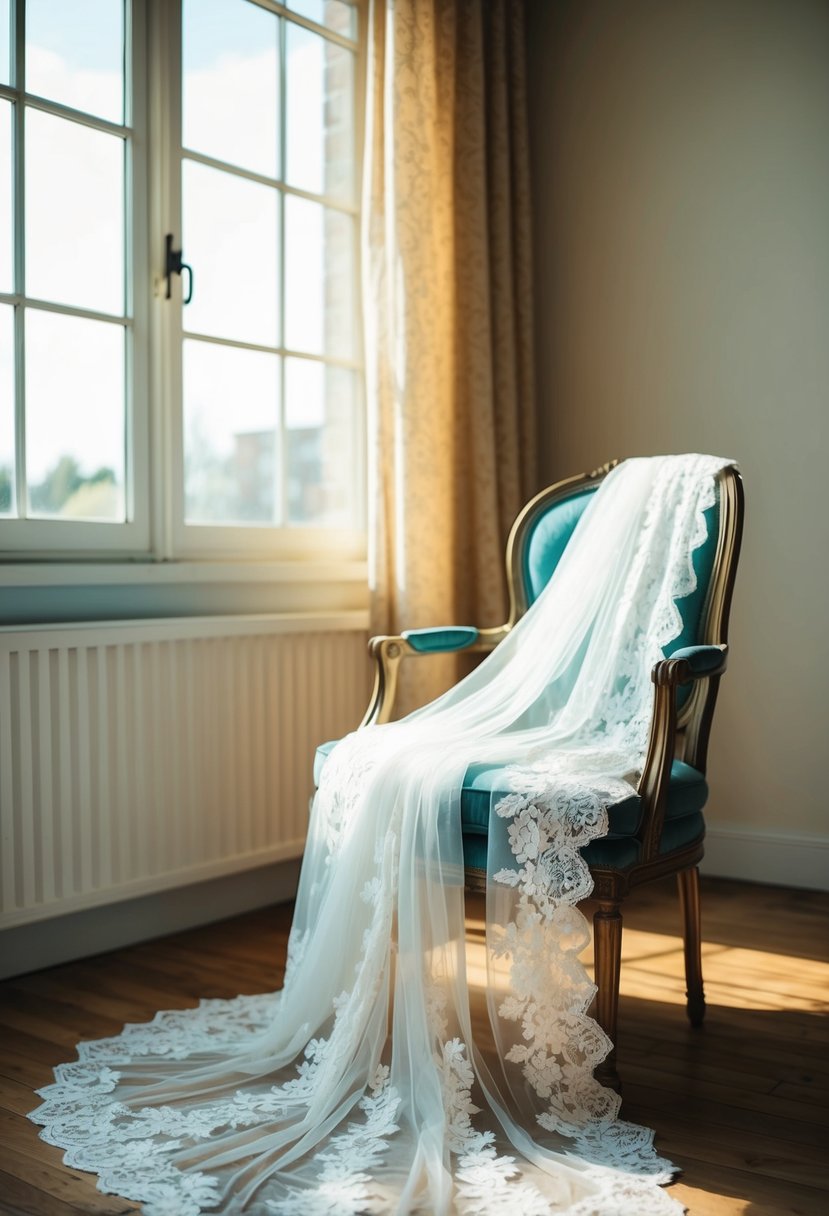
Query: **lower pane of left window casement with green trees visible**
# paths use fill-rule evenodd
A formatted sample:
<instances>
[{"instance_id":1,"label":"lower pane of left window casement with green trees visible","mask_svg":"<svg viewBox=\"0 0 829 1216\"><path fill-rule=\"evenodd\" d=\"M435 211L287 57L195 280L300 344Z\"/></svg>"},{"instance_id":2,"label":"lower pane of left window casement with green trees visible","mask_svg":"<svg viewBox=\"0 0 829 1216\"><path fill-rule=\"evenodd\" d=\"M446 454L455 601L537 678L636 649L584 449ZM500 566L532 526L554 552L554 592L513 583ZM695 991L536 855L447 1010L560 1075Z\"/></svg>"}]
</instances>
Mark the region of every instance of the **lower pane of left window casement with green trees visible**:
<instances>
[{"instance_id":1,"label":"lower pane of left window casement with green trees visible","mask_svg":"<svg viewBox=\"0 0 829 1216\"><path fill-rule=\"evenodd\" d=\"M123 522L124 330L30 309L26 460L33 516Z\"/></svg>"}]
</instances>

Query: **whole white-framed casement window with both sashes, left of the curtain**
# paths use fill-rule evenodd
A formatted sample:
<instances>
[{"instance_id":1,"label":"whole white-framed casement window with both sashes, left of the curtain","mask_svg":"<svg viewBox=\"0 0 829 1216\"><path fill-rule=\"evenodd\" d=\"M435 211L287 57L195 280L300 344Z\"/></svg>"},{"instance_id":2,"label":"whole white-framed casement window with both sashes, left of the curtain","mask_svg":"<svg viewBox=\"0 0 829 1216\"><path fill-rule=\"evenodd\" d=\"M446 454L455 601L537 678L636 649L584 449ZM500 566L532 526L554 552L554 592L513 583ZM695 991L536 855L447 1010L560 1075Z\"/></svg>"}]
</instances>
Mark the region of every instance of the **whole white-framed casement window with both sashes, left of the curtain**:
<instances>
[{"instance_id":1,"label":"whole white-framed casement window with both sashes, left of the curtain","mask_svg":"<svg viewBox=\"0 0 829 1216\"><path fill-rule=\"evenodd\" d=\"M359 18L0 0L7 554L360 552Z\"/></svg>"}]
</instances>

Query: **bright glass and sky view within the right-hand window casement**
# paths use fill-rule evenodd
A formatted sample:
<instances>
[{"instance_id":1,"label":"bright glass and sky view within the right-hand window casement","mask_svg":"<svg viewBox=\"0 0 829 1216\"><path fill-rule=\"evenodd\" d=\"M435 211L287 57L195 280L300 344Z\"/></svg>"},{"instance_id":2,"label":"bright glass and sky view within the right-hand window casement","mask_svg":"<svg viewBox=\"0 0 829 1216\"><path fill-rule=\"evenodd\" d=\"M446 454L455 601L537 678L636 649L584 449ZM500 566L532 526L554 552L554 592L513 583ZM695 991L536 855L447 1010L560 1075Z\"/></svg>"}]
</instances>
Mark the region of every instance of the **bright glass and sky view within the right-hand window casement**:
<instances>
[{"instance_id":1,"label":"bright glass and sky view within the right-hand window casement","mask_svg":"<svg viewBox=\"0 0 829 1216\"><path fill-rule=\"evenodd\" d=\"M308 16L322 23L328 5L317 9ZM321 199L353 202L353 52L239 0L185 0L182 35L182 231L197 283L184 311L185 331L271 347L275 356L286 348L354 359L354 216L277 188L284 181ZM229 168L187 159L188 153ZM241 176L236 168L267 181ZM275 375L284 383L284 406L271 393L269 417L260 385L270 372L260 362L254 376L254 360L246 354L254 353L216 353L207 343L187 343L188 519L350 524L354 495L349 500L343 491L342 468L335 467L342 466L344 430L354 430L354 394L343 390L350 373L334 377L321 365L305 365L300 373L291 365L303 361L294 359L283 375L278 355ZM244 400L243 382L226 375L231 366L239 376L249 370ZM232 426L229 399L238 401ZM249 417L253 400L255 423ZM282 426L293 434L280 439ZM287 484L281 484L283 475Z\"/></svg>"}]
</instances>

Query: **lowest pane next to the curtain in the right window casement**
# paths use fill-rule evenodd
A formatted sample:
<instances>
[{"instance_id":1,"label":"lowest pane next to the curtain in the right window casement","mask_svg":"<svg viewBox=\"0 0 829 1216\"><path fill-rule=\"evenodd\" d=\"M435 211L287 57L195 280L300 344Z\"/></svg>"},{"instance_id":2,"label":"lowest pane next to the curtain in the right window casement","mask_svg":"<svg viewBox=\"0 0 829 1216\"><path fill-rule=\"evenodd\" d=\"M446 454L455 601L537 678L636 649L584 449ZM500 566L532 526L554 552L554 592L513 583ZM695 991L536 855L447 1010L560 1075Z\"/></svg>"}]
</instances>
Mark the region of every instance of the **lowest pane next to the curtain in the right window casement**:
<instances>
[{"instance_id":1,"label":"lowest pane next to the curtain in the right window casement","mask_svg":"<svg viewBox=\"0 0 829 1216\"><path fill-rule=\"evenodd\" d=\"M359 474L354 375L286 359L288 522L355 527Z\"/></svg>"}]
</instances>

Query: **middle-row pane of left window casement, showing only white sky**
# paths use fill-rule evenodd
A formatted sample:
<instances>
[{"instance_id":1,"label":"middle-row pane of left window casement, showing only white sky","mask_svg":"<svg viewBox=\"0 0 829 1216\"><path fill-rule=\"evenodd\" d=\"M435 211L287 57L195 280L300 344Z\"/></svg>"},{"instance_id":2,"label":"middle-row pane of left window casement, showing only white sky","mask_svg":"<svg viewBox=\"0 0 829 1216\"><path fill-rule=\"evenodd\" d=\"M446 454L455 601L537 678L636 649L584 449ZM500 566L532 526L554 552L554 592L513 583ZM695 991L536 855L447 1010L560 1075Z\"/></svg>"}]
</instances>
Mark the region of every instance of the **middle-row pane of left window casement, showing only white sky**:
<instances>
[{"instance_id":1,"label":"middle-row pane of left window casement, showing only white sky","mask_svg":"<svg viewBox=\"0 0 829 1216\"><path fill-rule=\"evenodd\" d=\"M124 311L124 141L26 113L26 289L35 299Z\"/></svg>"}]
</instances>

